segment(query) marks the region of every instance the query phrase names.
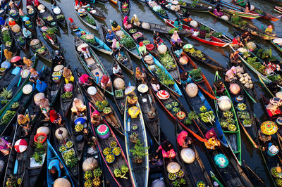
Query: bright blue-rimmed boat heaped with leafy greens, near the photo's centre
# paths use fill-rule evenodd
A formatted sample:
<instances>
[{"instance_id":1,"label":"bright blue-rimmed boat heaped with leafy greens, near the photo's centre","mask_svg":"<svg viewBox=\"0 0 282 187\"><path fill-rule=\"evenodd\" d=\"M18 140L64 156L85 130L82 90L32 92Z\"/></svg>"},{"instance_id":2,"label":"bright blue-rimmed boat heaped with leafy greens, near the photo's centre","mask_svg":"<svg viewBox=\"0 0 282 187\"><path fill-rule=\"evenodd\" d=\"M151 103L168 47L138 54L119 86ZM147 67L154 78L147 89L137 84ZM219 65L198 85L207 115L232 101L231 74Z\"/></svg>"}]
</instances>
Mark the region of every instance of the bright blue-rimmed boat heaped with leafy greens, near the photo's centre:
<instances>
[{"instance_id":1,"label":"bright blue-rimmed boat heaped with leafy greens, near the photo's centre","mask_svg":"<svg viewBox=\"0 0 282 187\"><path fill-rule=\"evenodd\" d=\"M137 45L139 47L139 45ZM149 54L149 56L152 56L151 54ZM153 60L154 60L154 67L149 66L144 58L142 58L142 62L144 63L144 65L147 67L147 70L149 70L149 72L152 75L156 75L159 78L159 82L161 82L161 75L158 75L157 72L154 72L154 69L156 66L161 69L166 75L168 79L173 80L174 84L173 86L166 86L166 84L164 84L164 82L161 82L161 84L163 84L164 86L166 86L166 88L168 88L170 91L172 91L174 94L176 94L176 96L182 96L182 93L178 87L178 85L176 84L176 82L174 81L173 77L171 77L171 75L168 73L168 71L164 68L163 65L161 65L161 63L159 63L159 60L157 60L157 58L154 58L154 56L152 56Z\"/></svg>"}]
</instances>

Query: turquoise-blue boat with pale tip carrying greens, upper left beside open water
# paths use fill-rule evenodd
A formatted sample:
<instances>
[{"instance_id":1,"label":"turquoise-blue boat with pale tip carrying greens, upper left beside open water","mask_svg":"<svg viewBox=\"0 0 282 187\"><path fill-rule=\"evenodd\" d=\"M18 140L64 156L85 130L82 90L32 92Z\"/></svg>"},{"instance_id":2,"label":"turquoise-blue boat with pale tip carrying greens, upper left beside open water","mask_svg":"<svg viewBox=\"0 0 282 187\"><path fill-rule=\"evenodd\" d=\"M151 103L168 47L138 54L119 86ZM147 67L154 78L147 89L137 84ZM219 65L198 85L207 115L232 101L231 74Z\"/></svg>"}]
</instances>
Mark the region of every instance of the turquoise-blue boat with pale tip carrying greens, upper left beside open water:
<instances>
[{"instance_id":1,"label":"turquoise-blue boat with pale tip carrying greens, upper left beside open water","mask_svg":"<svg viewBox=\"0 0 282 187\"><path fill-rule=\"evenodd\" d=\"M106 53L108 55L113 54L113 50L111 50L111 48L109 46L107 46L105 44L105 42L102 41L102 39L99 39L94 34L91 34L90 32L82 30L80 27L78 27L78 29L72 30L72 31L75 34L75 36L80 37L80 39L85 41L85 43L90 45L93 49L96 49L97 51L100 51L102 53ZM85 34L81 35L82 32L85 32ZM92 38L91 41L90 41L90 39L86 39L86 37L91 37Z\"/></svg>"}]
</instances>

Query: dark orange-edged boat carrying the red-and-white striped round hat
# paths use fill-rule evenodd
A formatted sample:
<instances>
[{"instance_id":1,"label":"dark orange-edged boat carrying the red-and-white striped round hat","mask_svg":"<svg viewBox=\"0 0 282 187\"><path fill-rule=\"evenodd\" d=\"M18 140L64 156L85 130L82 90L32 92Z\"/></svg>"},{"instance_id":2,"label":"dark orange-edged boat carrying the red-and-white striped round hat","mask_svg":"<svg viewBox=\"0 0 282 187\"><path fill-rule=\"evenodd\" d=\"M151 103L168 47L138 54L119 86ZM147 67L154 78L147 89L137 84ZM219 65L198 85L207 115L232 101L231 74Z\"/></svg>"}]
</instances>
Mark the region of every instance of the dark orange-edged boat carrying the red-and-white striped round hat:
<instances>
[{"instance_id":1,"label":"dark orange-edged boat carrying the red-and-white striped round hat","mask_svg":"<svg viewBox=\"0 0 282 187\"><path fill-rule=\"evenodd\" d=\"M147 74L147 84L149 84L149 82L151 81L151 76L149 74ZM202 134L202 131L200 130L200 128L197 126L197 123L195 122L195 120L192 121L192 124L186 124L185 123L185 118L188 117L188 110L185 109L184 105L180 103L180 101L178 100L178 98L176 98L176 96L173 95L173 93L167 89L165 86L161 85L161 89L163 91L166 91L169 94L169 98L167 98L166 100L161 100L158 96L157 96L157 92L154 91L152 89L151 84L149 84L149 88L151 89L152 93L154 93L154 97L157 98L157 101L159 101L159 104L164 108L164 110L166 110L166 112L168 113L168 115L170 115L173 120L179 121L181 126L188 131L188 133L192 134L193 136L195 136L195 138L197 138L199 141L205 142L206 140L204 139L204 134ZM169 107L168 105L172 105L172 103L175 103L175 105L178 104L178 108L179 111L183 111L185 112L185 118L182 120L179 120L177 117L177 110L176 112L173 112L173 106ZM171 109L168 109L171 108Z\"/></svg>"}]
</instances>

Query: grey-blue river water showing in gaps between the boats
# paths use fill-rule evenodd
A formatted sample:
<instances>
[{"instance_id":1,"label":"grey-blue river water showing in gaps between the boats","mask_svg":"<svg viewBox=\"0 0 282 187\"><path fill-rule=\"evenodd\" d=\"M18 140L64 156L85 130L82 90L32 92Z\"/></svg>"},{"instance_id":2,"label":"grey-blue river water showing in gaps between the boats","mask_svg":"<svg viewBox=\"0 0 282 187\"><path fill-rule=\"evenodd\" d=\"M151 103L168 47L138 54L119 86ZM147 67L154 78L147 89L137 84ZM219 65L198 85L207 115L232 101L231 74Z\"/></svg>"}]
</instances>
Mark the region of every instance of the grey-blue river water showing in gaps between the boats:
<instances>
[{"instance_id":1,"label":"grey-blue river water showing in gaps between the boats","mask_svg":"<svg viewBox=\"0 0 282 187\"><path fill-rule=\"evenodd\" d=\"M186 0L188 1L188 0ZM51 9L51 4L49 4L50 1L42 1L42 4L44 4L45 6L47 6L48 8ZM189 1L188 1L189 2ZM58 1L59 6L61 6L61 8L63 9L63 13L66 15L66 18L73 18L73 20L75 21L75 24L77 24L79 27L82 27L82 29L87 30L89 32L92 32L93 34L95 34L97 37L102 38L102 35L99 34L99 32L90 29L89 27L87 27L86 25L84 25L82 22L80 22L79 18L77 17L77 15L75 15L74 12L74 8L73 8L73 1L70 0L61 0ZM147 7L146 4L141 4L140 1L137 0L130 0L130 4L131 4L131 8L130 8L130 15L128 16L129 18L132 18L133 14L136 13L140 20L142 21L147 21L147 22L155 22L155 23L160 23L160 24L164 24L164 21L161 20L161 18L159 18L157 15L155 15L150 9L149 7ZM252 1L252 4L254 4L256 7L259 7L263 10L268 11L269 13L273 13L274 15L278 15L276 14L276 12L273 9L274 4L269 3L268 1L263 1L263 0L254 0ZM25 5L24 5L25 6ZM105 21L101 21L99 20L99 22L102 22L103 24L105 24L107 27L110 27L110 20L116 20L119 24L121 24L121 13L118 10L118 6L114 5L112 3L106 3L106 4L97 4L97 6L99 8L102 9L102 11L104 11L105 15L106 15L106 20ZM25 9L24 9L25 10ZM233 36L232 33L232 27L230 25L227 25L226 23L221 22L220 20L215 20L214 21L214 17L212 17L212 15L209 15L208 13L192 13L192 18L200 21L202 23L204 23L205 25L209 25L210 27L213 27L215 30L218 30L219 32L224 32L225 34L228 34L229 36ZM176 16L173 15L173 13L168 12L169 18L175 20ZM266 27L267 25L274 25L274 28L276 30L276 32L282 32L282 24L281 24L281 20L278 20L276 22L271 22L269 20L254 20L253 21L255 25L257 25L257 27L261 27L261 25L264 25L264 27ZM68 65L71 65L71 67L79 67L80 71L84 71L82 68L82 65L80 65L80 62L78 61L78 58L75 55L75 50L73 47L73 35L71 34L71 31L60 31L61 32L61 36L59 36L59 41L61 44L61 49L63 50L64 56L67 58L68 60ZM39 31L37 30L37 33L39 33ZM150 41L152 41L152 33L149 32L144 32L146 34L146 36L149 38ZM38 34L40 35L40 34ZM282 34L281 34L282 35ZM42 39L42 37L40 36L40 38ZM219 48L219 47L214 47L214 46L209 46L207 44L202 44L199 41L196 41L194 39L183 39L185 43L190 43L193 44L195 46L197 46L198 49L200 49L201 51L204 51L204 53L207 53L209 56L211 56L212 58L216 59L219 61L219 63L221 63L222 65L226 65L226 63L228 63L228 59L226 57L224 57L222 54L226 53L226 55L229 55L230 49L228 47L226 47L225 49ZM43 41L43 39L42 39ZM278 51L271 46L270 41L263 41L262 39L258 39L256 38L256 41L261 44L262 46L264 46L266 49L269 49L269 47L272 49L272 52L274 55L279 55ZM111 65L113 63L113 59L111 58L111 56L106 56L104 55L104 53L99 53L97 52L97 55L99 56L99 58L101 58L102 62L104 63L106 69L111 72ZM280 54L281 55L281 54ZM282 56L281 56L282 57ZM142 65L140 60L137 60L136 58L133 58L133 65L134 67L140 66ZM42 66L42 63L39 63L39 67ZM212 85L213 80L214 80L214 70L212 70L212 68L203 66L200 63L197 63L197 65L199 67L202 67L202 71L204 72L204 75L207 77L207 79L209 80L209 83ZM255 85L257 87L257 91L259 94L259 91L262 91L262 89L260 88L260 84L257 80L256 75L254 75L252 72L250 72L250 75L252 75L252 79L255 81ZM130 79L130 82L132 84L134 84L134 79L133 77L131 77L130 75L125 75L125 79ZM265 92L262 92L265 93ZM112 99L109 98L109 100L111 100L111 102L113 102ZM184 103L184 105L188 108L188 104L186 103L185 99L182 97L180 98L180 101L182 103ZM114 105L114 103L113 103ZM114 105L115 106L115 105ZM257 115L260 120L265 121L266 116L264 115L264 110L262 110L262 105L260 103L257 103L254 105L254 112L255 115ZM118 110L116 110L118 112ZM166 115L166 113L164 112L164 110L162 110L162 108L158 107L158 112L159 112L159 119L160 119L160 124L161 124L161 129L164 131L164 133L166 134L166 136L168 137L168 139L175 143L175 136L174 136L174 121L168 117L168 115ZM119 115L121 118L121 122L123 122L123 116ZM169 119L169 120L168 120ZM245 136L245 134L243 132L241 132L241 137L242 137L242 160L245 160L247 162L248 165L250 165L250 167L257 172L257 174L267 183L269 184L269 179L266 175L266 172L264 171L264 165L263 162L261 160L261 158L259 157L259 151L255 150L252 147L252 144L250 143L250 141L248 141L247 136ZM121 138L119 138L121 143L124 146L123 140ZM197 143L199 144L199 143ZM123 147L124 148L124 147ZM125 150L125 149L124 149ZM200 157L202 158L203 162L204 162L204 166L207 169L207 172L209 173L210 170L214 170L212 165L210 164L209 160L207 159L205 153L202 151L203 147L199 147L197 146L197 150L200 153ZM104 167L104 172L108 173L106 171L106 167ZM109 174L107 175L108 180L109 181L113 181L111 178L111 176L109 176ZM42 177L44 179L44 177ZM111 183L112 186L114 183Z\"/></svg>"}]
</instances>

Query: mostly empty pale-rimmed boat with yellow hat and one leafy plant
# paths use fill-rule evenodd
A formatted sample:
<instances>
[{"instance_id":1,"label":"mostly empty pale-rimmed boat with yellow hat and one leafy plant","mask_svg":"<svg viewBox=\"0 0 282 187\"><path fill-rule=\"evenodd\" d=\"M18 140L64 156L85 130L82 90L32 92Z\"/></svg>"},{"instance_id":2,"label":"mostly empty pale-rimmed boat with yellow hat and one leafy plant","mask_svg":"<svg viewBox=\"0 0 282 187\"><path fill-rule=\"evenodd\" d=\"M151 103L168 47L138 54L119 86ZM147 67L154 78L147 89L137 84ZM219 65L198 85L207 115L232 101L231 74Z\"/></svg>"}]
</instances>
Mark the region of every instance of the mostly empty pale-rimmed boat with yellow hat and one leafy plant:
<instances>
[{"instance_id":1,"label":"mostly empty pale-rimmed boat with yellow hat and one leafy plant","mask_svg":"<svg viewBox=\"0 0 282 187\"><path fill-rule=\"evenodd\" d=\"M128 158L128 166L130 168L130 172L132 172L133 175L134 186L147 186L149 180L148 149L144 150L144 153L146 155L145 157L141 158L140 162L135 161L135 157L133 153L131 153L131 149L134 150L137 143L130 140L131 139L130 136L133 134L133 125L137 125L137 130L135 130L135 132L137 132L138 140L140 140L139 146L142 146L143 148L148 148L145 122L138 101L136 105L132 107L133 108L135 107L135 109L133 110L139 110L140 114L137 117L132 117L129 115L129 110L131 107L129 107L128 98L129 96L126 96L125 98L124 124L123 124L124 125L123 128L125 131L125 150Z\"/></svg>"}]
</instances>

